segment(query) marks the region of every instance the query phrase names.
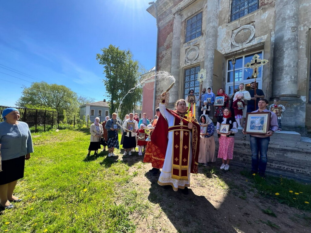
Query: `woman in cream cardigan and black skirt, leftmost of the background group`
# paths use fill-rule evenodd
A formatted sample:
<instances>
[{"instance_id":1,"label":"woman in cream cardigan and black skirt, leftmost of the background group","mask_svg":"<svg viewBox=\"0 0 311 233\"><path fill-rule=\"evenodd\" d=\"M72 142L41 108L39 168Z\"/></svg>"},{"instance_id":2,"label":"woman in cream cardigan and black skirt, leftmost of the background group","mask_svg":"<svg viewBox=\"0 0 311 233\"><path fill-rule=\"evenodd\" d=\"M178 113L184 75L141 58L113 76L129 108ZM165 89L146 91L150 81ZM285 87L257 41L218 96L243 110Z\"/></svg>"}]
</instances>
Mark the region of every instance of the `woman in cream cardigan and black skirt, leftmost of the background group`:
<instances>
[{"instance_id":1,"label":"woman in cream cardigan and black skirt, leftmost of the background group","mask_svg":"<svg viewBox=\"0 0 311 233\"><path fill-rule=\"evenodd\" d=\"M100 124L99 117L96 117L94 120L94 124L91 124L90 132L91 132L91 142L89 146L89 153L87 156L90 156L92 150L94 150L94 154L97 155L98 149L100 149L100 139L103 136L104 130L103 126Z\"/></svg>"}]
</instances>

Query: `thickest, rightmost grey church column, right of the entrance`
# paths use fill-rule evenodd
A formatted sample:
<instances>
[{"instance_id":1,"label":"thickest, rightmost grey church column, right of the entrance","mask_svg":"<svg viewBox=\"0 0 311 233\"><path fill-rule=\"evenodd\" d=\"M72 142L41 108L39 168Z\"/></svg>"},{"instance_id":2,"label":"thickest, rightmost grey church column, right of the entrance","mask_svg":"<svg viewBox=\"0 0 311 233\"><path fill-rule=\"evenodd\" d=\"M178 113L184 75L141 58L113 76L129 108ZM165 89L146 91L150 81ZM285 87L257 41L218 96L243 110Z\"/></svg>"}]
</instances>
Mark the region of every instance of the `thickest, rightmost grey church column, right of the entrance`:
<instances>
[{"instance_id":1,"label":"thickest, rightmost grey church column, right of the entrance","mask_svg":"<svg viewBox=\"0 0 311 233\"><path fill-rule=\"evenodd\" d=\"M276 0L273 97L298 97L298 0Z\"/></svg>"}]
</instances>

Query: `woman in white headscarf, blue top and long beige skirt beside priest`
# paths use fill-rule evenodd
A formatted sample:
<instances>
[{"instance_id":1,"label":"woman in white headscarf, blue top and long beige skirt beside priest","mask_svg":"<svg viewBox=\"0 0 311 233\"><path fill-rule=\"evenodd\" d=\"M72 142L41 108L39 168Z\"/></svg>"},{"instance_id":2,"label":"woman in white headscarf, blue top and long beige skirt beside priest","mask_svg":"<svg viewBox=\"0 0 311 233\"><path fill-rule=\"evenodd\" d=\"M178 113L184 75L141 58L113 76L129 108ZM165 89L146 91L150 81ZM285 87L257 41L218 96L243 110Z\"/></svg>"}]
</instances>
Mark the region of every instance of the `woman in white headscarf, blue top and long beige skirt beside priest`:
<instances>
[{"instance_id":1,"label":"woman in white headscarf, blue top and long beige skirt beside priest","mask_svg":"<svg viewBox=\"0 0 311 233\"><path fill-rule=\"evenodd\" d=\"M198 162L203 163L203 166L207 166L208 162L215 162L215 140L214 132L215 127L212 120L207 115L201 115L200 125L207 126L205 133L200 134L200 151Z\"/></svg>"}]
</instances>

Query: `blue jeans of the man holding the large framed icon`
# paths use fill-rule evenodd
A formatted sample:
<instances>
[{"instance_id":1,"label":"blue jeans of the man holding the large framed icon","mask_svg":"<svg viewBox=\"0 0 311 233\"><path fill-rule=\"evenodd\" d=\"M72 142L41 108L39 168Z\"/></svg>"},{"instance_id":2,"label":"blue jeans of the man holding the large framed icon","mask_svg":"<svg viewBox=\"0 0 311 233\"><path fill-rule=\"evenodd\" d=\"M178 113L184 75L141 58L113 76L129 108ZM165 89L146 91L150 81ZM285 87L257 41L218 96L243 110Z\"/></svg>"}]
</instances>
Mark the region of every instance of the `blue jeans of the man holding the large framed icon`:
<instances>
[{"instance_id":1,"label":"blue jeans of the man holding the large framed icon","mask_svg":"<svg viewBox=\"0 0 311 233\"><path fill-rule=\"evenodd\" d=\"M267 167L267 152L270 137L259 138L249 135L252 150L252 171L265 173ZM260 158L258 155L260 153Z\"/></svg>"}]
</instances>

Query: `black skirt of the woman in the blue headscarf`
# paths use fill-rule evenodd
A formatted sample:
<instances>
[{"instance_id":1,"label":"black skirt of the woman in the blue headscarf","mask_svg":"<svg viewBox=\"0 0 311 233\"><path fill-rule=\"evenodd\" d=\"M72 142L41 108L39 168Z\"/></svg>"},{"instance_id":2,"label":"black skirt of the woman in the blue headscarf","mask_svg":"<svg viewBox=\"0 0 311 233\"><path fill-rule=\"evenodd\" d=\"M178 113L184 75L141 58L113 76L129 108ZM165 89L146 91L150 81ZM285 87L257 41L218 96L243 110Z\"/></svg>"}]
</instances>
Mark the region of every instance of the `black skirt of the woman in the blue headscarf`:
<instances>
[{"instance_id":1,"label":"black skirt of the woman in the blue headscarf","mask_svg":"<svg viewBox=\"0 0 311 233\"><path fill-rule=\"evenodd\" d=\"M5 185L24 177L25 155L9 160L2 160L1 163L0 185Z\"/></svg>"}]
</instances>

